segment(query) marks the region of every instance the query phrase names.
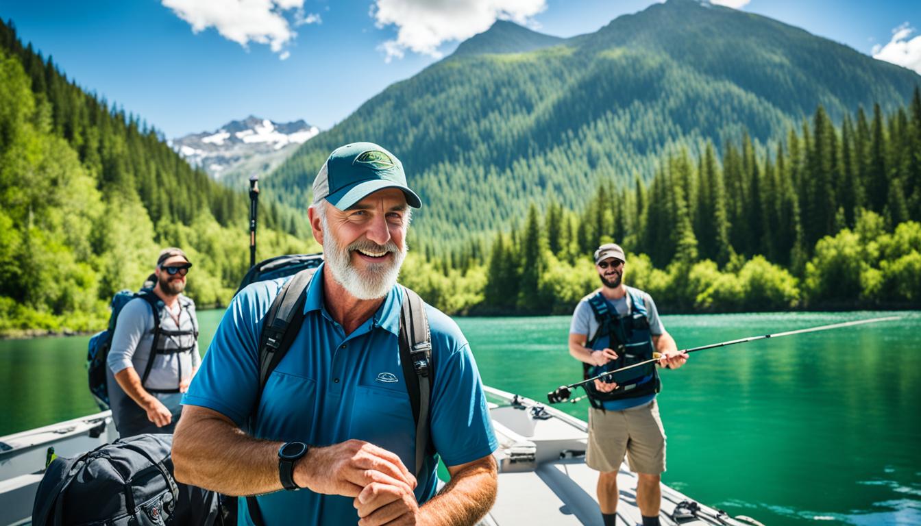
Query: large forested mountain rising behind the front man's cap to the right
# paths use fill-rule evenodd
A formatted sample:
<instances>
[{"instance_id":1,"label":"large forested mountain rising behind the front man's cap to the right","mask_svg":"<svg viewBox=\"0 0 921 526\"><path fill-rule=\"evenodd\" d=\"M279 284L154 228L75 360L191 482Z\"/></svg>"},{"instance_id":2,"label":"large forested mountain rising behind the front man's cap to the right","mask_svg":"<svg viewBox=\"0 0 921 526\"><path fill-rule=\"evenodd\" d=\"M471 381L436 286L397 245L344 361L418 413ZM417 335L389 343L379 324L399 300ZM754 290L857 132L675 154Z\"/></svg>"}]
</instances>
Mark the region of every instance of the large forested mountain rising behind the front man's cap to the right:
<instances>
[{"instance_id":1,"label":"large forested mountain rising behind the front man's cap to the right","mask_svg":"<svg viewBox=\"0 0 921 526\"><path fill-rule=\"evenodd\" d=\"M443 253L520 223L530 200L581 209L598 181L648 180L678 146L697 155L709 139L719 152L747 130L761 148L820 104L835 123L875 102L892 111L921 81L802 29L692 0L554 45L532 33L496 24L385 89L302 146L267 193L306 205L334 147L379 142L425 203L415 246ZM509 41L540 49L508 53Z\"/></svg>"}]
</instances>

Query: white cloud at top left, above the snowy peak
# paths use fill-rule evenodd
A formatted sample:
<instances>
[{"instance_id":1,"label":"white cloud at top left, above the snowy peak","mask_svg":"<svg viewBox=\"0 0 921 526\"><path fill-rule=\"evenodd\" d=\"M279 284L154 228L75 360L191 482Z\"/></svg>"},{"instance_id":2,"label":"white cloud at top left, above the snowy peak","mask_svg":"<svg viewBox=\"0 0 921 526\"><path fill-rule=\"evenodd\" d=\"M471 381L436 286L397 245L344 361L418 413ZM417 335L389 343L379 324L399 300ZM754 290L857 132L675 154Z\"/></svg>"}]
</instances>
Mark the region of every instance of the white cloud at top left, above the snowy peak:
<instances>
[{"instance_id":1,"label":"white cloud at top left, above the snowy peak","mask_svg":"<svg viewBox=\"0 0 921 526\"><path fill-rule=\"evenodd\" d=\"M253 41L268 44L274 53L282 53L286 44L297 36L291 30L285 12L304 6L304 0L161 1L177 17L188 22L192 32L214 27L222 37L244 48ZM290 53L284 53L290 56Z\"/></svg>"}]
</instances>

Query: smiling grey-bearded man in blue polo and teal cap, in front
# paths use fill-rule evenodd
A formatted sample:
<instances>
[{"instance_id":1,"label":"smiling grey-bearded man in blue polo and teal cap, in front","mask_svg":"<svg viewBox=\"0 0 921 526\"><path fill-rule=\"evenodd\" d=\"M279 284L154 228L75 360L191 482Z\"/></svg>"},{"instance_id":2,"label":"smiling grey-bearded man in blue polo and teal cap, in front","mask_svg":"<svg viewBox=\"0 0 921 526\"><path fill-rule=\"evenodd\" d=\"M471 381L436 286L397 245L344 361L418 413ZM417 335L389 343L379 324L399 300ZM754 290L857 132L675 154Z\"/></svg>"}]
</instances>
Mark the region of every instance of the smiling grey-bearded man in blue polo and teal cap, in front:
<instances>
[{"instance_id":1,"label":"smiling grey-bearded man in blue polo and teal cap, in front","mask_svg":"<svg viewBox=\"0 0 921 526\"><path fill-rule=\"evenodd\" d=\"M227 309L183 400L173 462L181 482L259 495L258 513L239 499L239 524L473 524L491 508L496 441L479 373L460 329L428 305L431 447L415 465L398 338L410 292L396 280L420 205L384 148L332 152L309 208L325 262L261 394L262 319L286 279L244 288ZM450 474L440 491L438 456Z\"/></svg>"}]
</instances>

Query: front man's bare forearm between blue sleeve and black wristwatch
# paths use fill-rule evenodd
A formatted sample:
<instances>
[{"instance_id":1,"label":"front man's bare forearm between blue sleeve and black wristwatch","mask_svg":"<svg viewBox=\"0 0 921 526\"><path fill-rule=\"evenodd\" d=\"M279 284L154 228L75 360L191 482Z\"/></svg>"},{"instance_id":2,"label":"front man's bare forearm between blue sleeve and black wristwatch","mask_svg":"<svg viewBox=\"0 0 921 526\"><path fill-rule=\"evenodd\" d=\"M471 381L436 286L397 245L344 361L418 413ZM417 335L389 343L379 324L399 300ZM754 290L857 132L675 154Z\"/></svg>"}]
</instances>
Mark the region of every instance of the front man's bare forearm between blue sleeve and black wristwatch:
<instances>
[{"instance_id":1,"label":"front man's bare forearm between blue sleeve and black wristwatch","mask_svg":"<svg viewBox=\"0 0 921 526\"><path fill-rule=\"evenodd\" d=\"M229 420L185 407L173 437L176 480L225 495L259 495L281 489L281 442L252 438Z\"/></svg>"}]
</instances>

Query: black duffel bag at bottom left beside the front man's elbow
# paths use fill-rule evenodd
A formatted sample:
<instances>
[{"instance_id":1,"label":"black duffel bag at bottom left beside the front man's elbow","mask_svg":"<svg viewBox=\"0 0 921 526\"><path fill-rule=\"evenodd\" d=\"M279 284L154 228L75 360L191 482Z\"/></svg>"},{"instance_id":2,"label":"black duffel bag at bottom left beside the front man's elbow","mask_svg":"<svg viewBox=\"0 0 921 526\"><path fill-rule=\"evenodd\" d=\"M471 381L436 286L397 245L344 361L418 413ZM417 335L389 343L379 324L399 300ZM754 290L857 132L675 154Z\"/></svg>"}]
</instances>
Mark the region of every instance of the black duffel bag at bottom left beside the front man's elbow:
<instances>
[{"instance_id":1,"label":"black duffel bag at bottom left beside the front man's elbow","mask_svg":"<svg viewBox=\"0 0 921 526\"><path fill-rule=\"evenodd\" d=\"M171 446L172 435L138 435L54 459L35 494L32 524L220 524L214 492L173 478Z\"/></svg>"}]
</instances>

